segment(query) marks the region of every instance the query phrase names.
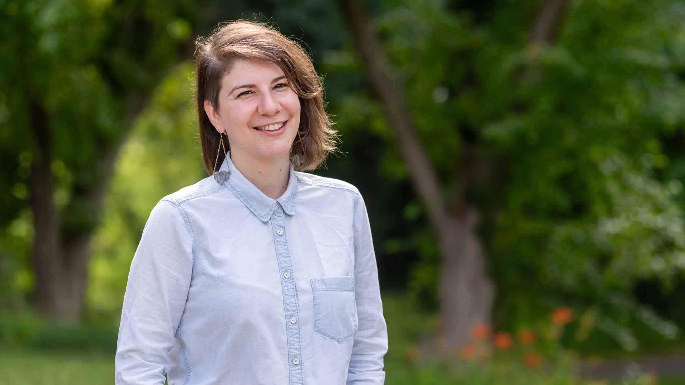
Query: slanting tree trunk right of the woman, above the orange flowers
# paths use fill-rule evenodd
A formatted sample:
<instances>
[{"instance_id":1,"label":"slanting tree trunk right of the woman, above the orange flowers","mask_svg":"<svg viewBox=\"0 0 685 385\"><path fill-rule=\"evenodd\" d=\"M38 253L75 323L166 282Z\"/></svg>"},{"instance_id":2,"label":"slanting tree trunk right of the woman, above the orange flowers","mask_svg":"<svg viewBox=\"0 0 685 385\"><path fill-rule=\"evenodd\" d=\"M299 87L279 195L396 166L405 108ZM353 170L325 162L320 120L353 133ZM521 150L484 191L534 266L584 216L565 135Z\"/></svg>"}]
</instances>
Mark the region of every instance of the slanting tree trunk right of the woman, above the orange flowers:
<instances>
[{"instance_id":1,"label":"slanting tree trunk right of the woman, above the orange flowers","mask_svg":"<svg viewBox=\"0 0 685 385\"><path fill-rule=\"evenodd\" d=\"M490 323L495 286L488 276L486 258L475 233L479 214L462 203L461 213L450 213L440 181L413 127L401 89L396 86L373 25L353 0L338 0L349 32L360 53L371 87L382 102L390 127L410 171L414 188L427 208L429 223L443 258L439 280L443 333L435 342L447 352L464 345L473 325Z\"/></svg>"}]
</instances>

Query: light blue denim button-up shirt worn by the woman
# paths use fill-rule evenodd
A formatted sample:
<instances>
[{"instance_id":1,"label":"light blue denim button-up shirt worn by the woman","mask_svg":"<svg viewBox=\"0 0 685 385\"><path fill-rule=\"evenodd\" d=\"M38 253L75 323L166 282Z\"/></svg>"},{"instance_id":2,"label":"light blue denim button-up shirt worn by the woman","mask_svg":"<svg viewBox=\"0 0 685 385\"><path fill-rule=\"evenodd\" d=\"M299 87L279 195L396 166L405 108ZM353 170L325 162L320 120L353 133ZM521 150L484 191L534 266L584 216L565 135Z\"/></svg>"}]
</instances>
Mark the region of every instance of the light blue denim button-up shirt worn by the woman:
<instances>
[{"instance_id":1,"label":"light blue denim button-up shirt worn by the woman","mask_svg":"<svg viewBox=\"0 0 685 385\"><path fill-rule=\"evenodd\" d=\"M388 333L357 188L295 172L266 197L227 158L164 197L126 286L119 385L383 384Z\"/></svg>"}]
</instances>

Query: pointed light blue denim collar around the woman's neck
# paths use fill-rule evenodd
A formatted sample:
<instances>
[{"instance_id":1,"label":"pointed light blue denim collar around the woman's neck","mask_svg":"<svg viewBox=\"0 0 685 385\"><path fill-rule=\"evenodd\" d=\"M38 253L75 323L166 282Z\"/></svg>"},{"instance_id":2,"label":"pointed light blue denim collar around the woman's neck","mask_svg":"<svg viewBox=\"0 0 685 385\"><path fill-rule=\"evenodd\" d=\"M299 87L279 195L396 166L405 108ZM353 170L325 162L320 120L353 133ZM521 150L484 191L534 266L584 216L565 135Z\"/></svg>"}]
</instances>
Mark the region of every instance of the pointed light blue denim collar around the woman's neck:
<instances>
[{"instance_id":1,"label":"pointed light blue denim collar around the woman's neck","mask_svg":"<svg viewBox=\"0 0 685 385\"><path fill-rule=\"evenodd\" d=\"M228 151L219 171L231 172L231 175L228 177L224 186L229 188L236 198L240 199L242 204L249 208L252 214L255 214L260 221L266 222L271 218L271 213L273 213L276 201L280 203L286 214L295 215L297 177L295 176L295 170L292 169L292 163L289 164L289 167L290 178L288 179L288 188L286 188L286 192L278 199L271 199L264 195L264 192L253 185L240 173L240 171L238 171L238 169L236 169L236 166L234 166L231 161L231 151Z\"/></svg>"}]
</instances>

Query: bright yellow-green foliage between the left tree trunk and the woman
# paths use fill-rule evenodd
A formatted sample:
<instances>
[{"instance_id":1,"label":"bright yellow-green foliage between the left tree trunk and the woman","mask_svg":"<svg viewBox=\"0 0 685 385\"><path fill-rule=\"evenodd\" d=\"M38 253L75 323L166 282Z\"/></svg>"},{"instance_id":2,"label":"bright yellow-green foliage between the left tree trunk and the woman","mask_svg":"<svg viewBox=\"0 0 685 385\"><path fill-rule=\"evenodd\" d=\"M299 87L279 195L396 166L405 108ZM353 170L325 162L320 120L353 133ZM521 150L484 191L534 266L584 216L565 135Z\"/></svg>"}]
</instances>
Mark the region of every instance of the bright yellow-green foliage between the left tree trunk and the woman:
<instances>
[{"instance_id":1,"label":"bright yellow-green foliage between the left tree trunk and the woman","mask_svg":"<svg viewBox=\"0 0 685 385\"><path fill-rule=\"evenodd\" d=\"M86 290L90 319L119 325L129 265L151 208L179 186L207 176L189 102L192 71L184 63L164 79L121 151L93 238Z\"/></svg>"}]
</instances>

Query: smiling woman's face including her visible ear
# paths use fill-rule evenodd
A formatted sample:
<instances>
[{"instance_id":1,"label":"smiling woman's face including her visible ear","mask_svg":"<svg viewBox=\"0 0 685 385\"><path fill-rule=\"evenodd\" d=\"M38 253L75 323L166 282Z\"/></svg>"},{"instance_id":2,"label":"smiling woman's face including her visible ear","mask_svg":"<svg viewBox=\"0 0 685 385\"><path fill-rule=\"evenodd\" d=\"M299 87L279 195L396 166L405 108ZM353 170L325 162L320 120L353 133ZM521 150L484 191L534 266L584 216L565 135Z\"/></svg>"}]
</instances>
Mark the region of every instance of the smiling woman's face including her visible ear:
<instances>
[{"instance_id":1,"label":"smiling woman's face including her visible ear","mask_svg":"<svg viewBox=\"0 0 685 385\"><path fill-rule=\"evenodd\" d=\"M226 132L231 156L288 158L300 120L300 103L283 70L270 62L237 60L221 80L219 110L205 101L218 132Z\"/></svg>"}]
</instances>

